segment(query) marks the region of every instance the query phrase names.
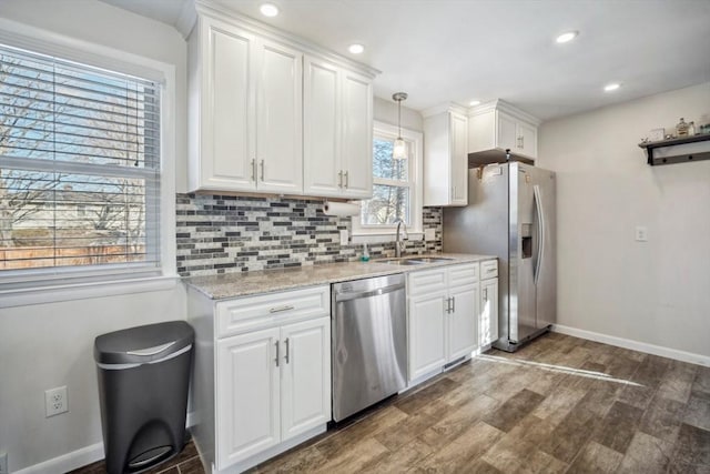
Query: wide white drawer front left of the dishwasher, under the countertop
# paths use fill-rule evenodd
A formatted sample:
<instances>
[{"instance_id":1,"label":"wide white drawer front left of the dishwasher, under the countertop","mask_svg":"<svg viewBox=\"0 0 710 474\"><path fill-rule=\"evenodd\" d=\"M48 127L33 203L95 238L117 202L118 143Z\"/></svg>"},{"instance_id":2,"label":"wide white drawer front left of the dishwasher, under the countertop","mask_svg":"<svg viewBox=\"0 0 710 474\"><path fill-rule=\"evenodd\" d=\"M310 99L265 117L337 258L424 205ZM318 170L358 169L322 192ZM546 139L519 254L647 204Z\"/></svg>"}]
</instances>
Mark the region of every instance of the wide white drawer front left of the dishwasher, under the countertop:
<instances>
[{"instance_id":1,"label":"wide white drawer front left of the dishwasher, under the countertop","mask_svg":"<svg viewBox=\"0 0 710 474\"><path fill-rule=\"evenodd\" d=\"M216 303L216 336L265 327L284 320L331 314L331 288L314 286L282 293L260 294Z\"/></svg>"}]
</instances>

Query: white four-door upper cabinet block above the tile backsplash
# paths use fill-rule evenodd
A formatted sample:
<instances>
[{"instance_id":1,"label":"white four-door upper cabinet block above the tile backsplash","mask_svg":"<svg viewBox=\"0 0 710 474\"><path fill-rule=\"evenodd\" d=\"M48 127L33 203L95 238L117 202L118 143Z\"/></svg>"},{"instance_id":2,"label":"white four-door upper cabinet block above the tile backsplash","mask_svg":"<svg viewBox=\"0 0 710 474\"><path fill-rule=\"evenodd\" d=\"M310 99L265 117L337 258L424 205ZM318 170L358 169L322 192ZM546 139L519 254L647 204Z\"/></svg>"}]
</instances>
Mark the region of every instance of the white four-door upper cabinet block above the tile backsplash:
<instances>
[{"instance_id":1,"label":"white four-door upper cabinet block above the tile backsplash","mask_svg":"<svg viewBox=\"0 0 710 474\"><path fill-rule=\"evenodd\" d=\"M357 63L321 60L286 33L196 8L189 191L369 198L375 71L354 73Z\"/></svg>"}]
</instances>

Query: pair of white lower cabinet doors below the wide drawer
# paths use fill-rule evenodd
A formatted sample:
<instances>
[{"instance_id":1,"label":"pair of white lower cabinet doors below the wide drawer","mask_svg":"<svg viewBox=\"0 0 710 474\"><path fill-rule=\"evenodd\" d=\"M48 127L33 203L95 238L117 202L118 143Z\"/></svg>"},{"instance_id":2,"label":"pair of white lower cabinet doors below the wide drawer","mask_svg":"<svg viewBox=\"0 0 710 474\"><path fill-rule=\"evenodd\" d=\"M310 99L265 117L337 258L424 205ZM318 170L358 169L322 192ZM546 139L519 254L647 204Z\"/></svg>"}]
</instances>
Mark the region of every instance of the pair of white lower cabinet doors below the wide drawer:
<instances>
[{"instance_id":1,"label":"pair of white lower cabinet doors below the wide drawer","mask_svg":"<svg viewBox=\"0 0 710 474\"><path fill-rule=\"evenodd\" d=\"M217 342L220 468L331 420L331 320Z\"/></svg>"}]
</instances>

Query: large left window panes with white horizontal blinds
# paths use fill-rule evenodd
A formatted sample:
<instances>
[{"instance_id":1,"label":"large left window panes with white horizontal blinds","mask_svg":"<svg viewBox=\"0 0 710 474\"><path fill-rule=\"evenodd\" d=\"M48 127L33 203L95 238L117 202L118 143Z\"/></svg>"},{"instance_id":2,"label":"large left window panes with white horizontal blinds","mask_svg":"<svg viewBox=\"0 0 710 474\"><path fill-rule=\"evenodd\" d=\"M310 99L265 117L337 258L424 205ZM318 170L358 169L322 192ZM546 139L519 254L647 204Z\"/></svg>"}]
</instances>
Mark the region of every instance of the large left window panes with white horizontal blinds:
<instances>
[{"instance_id":1,"label":"large left window panes with white horizontal blinds","mask_svg":"<svg viewBox=\"0 0 710 474\"><path fill-rule=\"evenodd\" d=\"M160 92L0 46L0 281L159 269Z\"/></svg>"}]
</instances>

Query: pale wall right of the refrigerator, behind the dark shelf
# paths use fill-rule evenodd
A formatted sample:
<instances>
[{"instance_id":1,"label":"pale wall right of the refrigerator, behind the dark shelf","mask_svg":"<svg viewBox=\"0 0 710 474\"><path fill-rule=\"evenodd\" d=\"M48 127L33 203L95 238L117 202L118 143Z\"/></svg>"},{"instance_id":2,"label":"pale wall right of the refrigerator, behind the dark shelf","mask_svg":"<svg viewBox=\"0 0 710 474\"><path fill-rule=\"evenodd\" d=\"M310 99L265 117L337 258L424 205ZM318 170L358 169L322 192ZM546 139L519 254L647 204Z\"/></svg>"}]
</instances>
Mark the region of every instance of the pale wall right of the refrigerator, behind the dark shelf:
<instances>
[{"instance_id":1,"label":"pale wall right of the refrigerator, behind the dark shelf","mask_svg":"<svg viewBox=\"0 0 710 474\"><path fill-rule=\"evenodd\" d=\"M710 82L546 122L536 164L558 172L559 324L707 360L710 161L649 167L638 147L681 117L710 122Z\"/></svg>"}]
</instances>

